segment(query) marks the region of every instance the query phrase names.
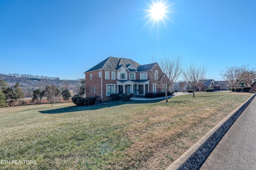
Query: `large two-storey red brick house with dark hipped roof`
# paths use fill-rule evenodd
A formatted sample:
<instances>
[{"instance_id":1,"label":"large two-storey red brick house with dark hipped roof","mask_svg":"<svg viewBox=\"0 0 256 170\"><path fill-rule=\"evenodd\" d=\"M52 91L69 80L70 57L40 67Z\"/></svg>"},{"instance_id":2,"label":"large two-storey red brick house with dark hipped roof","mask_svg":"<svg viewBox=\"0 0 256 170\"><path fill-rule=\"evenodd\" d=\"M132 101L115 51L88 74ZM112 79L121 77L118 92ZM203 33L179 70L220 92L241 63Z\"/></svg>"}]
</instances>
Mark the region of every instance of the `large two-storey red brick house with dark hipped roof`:
<instances>
[{"instance_id":1,"label":"large two-storey red brick house with dark hipped roof","mask_svg":"<svg viewBox=\"0 0 256 170\"><path fill-rule=\"evenodd\" d=\"M110 100L110 94L162 92L150 77L161 78L163 72L157 63L140 65L131 59L108 57L85 74L86 97L101 96ZM153 75L153 76L152 76Z\"/></svg>"}]
</instances>

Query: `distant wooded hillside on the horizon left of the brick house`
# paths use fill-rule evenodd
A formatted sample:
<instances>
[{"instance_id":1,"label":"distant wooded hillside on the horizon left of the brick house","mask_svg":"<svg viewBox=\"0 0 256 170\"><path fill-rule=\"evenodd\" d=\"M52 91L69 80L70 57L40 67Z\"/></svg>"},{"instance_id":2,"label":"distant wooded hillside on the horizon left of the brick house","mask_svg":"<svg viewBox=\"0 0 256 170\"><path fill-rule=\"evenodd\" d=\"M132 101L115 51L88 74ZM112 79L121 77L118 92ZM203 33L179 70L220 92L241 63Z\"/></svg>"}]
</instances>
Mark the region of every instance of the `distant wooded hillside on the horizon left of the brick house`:
<instances>
[{"instance_id":1,"label":"distant wooded hillside on the horizon left of the brick house","mask_svg":"<svg viewBox=\"0 0 256 170\"><path fill-rule=\"evenodd\" d=\"M31 74L3 74L0 73L0 79L6 81L10 86L20 83L20 88L25 92L26 97L32 97L33 91L42 90L45 86L53 84L60 89L67 87L71 94L77 94L79 88L79 80L60 80L58 77L35 76Z\"/></svg>"}]
</instances>

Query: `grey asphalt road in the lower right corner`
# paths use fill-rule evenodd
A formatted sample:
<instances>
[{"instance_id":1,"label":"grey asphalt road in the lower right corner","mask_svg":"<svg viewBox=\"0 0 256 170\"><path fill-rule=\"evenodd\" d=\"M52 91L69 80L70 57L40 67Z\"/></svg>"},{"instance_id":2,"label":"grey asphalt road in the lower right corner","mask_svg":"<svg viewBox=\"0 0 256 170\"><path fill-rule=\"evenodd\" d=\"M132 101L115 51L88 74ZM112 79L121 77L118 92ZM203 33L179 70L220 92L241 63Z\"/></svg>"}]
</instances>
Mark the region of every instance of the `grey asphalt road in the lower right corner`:
<instances>
[{"instance_id":1,"label":"grey asphalt road in the lower right corner","mask_svg":"<svg viewBox=\"0 0 256 170\"><path fill-rule=\"evenodd\" d=\"M256 170L256 98L236 119L200 170Z\"/></svg>"}]
</instances>

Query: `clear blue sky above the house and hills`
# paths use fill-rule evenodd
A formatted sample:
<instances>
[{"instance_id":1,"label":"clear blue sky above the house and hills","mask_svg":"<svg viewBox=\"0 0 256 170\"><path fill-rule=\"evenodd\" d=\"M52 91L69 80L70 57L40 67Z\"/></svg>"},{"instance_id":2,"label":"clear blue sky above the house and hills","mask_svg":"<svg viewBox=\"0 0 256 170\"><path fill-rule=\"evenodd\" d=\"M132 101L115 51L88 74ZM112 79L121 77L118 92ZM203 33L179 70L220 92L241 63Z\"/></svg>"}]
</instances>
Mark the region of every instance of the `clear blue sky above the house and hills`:
<instances>
[{"instance_id":1,"label":"clear blue sky above the house and hills","mask_svg":"<svg viewBox=\"0 0 256 170\"><path fill-rule=\"evenodd\" d=\"M77 79L109 56L148 64L164 53L205 64L214 80L255 68L255 0L163 0L154 23L153 2L0 0L0 72Z\"/></svg>"}]
</instances>

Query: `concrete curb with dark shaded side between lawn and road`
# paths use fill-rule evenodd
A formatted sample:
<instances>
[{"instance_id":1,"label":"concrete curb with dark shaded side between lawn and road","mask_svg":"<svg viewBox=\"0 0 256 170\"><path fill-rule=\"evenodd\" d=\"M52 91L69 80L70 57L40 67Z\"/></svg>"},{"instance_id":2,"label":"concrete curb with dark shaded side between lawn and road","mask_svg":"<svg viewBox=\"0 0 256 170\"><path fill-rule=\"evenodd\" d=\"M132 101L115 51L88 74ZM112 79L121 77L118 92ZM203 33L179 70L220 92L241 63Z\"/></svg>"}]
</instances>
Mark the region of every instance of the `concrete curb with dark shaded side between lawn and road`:
<instances>
[{"instance_id":1,"label":"concrete curb with dark shaded side between lawn and road","mask_svg":"<svg viewBox=\"0 0 256 170\"><path fill-rule=\"evenodd\" d=\"M225 135L238 116L250 104L256 94L248 98L238 108L232 111L220 123L204 135L196 144L175 160L166 170L197 170L199 169L220 139Z\"/></svg>"}]
</instances>

